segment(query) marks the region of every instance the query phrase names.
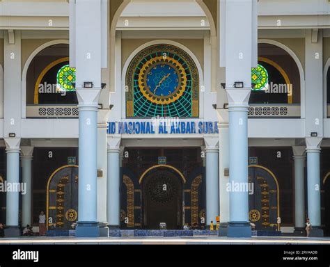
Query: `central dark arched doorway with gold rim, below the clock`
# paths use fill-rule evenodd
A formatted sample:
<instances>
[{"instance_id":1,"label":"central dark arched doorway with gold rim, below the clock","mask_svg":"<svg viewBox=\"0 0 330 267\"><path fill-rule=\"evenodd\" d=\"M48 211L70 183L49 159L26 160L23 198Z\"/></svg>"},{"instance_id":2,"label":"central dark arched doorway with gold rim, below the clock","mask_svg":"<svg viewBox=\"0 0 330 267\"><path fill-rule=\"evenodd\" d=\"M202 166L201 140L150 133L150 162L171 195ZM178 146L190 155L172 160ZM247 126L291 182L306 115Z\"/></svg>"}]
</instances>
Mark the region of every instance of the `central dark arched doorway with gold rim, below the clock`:
<instances>
[{"instance_id":1,"label":"central dark arched doorway with gold rim, below the clock","mask_svg":"<svg viewBox=\"0 0 330 267\"><path fill-rule=\"evenodd\" d=\"M171 166L157 165L140 179L142 186L143 228L182 229L182 195L184 177Z\"/></svg>"}]
</instances>

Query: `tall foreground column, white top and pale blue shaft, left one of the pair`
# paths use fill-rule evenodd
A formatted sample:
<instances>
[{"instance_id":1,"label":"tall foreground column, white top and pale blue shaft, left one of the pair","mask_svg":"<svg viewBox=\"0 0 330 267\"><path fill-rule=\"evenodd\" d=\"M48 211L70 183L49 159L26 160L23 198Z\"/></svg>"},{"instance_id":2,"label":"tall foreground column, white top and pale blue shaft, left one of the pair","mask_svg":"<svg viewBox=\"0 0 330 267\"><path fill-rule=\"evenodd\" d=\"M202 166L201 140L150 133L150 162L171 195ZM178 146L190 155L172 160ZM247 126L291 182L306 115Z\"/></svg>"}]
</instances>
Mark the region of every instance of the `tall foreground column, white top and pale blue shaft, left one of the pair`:
<instances>
[{"instance_id":1,"label":"tall foreground column, white top and pale blue shaft, left one of the pair","mask_svg":"<svg viewBox=\"0 0 330 267\"><path fill-rule=\"evenodd\" d=\"M100 236L97 223L97 111L102 88L104 44L101 0L76 0L70 5L72 64L77 68L79 101L79 218L77 237ZM104 36L103 36L104 37Z\"/></svg>"}]
</instances>

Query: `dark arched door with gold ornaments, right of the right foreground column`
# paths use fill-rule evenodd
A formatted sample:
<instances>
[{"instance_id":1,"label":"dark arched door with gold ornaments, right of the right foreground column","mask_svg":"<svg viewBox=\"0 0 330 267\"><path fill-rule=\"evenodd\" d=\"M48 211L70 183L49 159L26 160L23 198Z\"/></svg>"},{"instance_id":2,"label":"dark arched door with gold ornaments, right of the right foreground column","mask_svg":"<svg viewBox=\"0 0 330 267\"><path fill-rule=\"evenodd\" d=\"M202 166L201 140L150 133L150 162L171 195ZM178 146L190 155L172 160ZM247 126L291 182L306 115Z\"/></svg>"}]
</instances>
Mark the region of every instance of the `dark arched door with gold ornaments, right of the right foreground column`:
<instances>
[{"instance_id":1,"label":"dark arched door with gold ornaments, right of the right foreground column","mask_svg":"<svg viewBox=\"0 0 330 267\"><path fill-rule=\"evenodd\" d=\"M278 229L279 186L273 172L260 165L249 166L249 219L256 230Z\"/></svg>"}]
</instances>

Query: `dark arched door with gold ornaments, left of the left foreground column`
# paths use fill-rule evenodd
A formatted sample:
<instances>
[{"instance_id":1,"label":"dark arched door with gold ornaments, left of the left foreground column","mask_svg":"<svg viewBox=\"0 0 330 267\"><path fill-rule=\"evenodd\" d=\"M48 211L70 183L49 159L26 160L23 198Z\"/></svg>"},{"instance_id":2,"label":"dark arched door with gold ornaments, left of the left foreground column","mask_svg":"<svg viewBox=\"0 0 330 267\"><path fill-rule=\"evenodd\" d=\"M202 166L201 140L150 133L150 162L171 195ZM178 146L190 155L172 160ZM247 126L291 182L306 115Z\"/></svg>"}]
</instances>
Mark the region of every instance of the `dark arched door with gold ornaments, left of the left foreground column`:
<instances>
[{"instance_id":1,"label":"dark arched door with gold ornaments, left of the left foreground column","mask_svg":"<svg viewBox=\"0 0 330 267\"><path fill-rule=\"evenodd\" d=\"M47 183L47 229L69 230L78 220L78 166L55 170Z\"/></svg>"}]
</instances>

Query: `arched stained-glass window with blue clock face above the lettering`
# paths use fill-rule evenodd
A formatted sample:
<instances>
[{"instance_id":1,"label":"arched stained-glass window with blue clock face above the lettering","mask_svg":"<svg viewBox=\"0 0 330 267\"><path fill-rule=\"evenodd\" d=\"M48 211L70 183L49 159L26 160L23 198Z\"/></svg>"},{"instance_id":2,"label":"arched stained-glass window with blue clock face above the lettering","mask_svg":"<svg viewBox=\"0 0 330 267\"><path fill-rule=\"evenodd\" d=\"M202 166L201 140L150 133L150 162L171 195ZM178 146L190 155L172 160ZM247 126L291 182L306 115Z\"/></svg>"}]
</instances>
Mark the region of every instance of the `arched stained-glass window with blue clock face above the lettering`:
<instances>
[{"instance_id":1,"label":"arched stained-glass window with blue clock face above the lettering","mask_svg":"<svg viewBox=\"0 0 330 267\"><path fill-rule=\"evenodd\" d=\"M178 47L155 44L137 54L126 76L129 118L198 117L198 71Z\"/></svg>"}]
</instances>

